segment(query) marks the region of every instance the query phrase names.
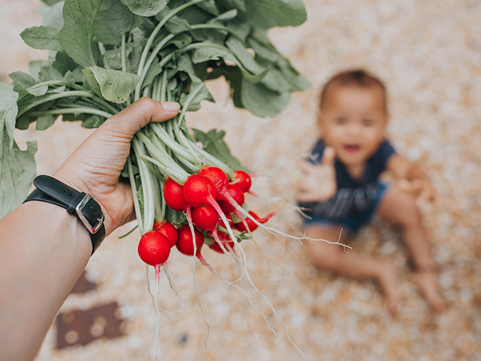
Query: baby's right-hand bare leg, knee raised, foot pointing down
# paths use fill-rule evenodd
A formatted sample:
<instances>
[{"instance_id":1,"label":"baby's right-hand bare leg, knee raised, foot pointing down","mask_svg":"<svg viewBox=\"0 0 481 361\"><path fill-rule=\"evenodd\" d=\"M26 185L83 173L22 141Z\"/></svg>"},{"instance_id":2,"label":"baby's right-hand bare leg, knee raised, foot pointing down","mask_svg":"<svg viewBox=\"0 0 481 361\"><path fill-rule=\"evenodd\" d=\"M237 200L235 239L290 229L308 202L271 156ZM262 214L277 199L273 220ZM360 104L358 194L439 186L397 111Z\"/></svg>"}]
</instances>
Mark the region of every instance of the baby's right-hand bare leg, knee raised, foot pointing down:
<instances>
[{"instance_id":1,"label":"baby's right-hand bare leg, knee raised, foot pointing down","mask_svg":"<svg viewBox=\"0 0 481 361\"><path fill-rule=\"evenodd\" d=\"M398 186L392 186L386 190L378 214L403 228L403 241L416 267L413 281L432 307L436 311L443 311L445 303L438 291L429 239L414 196Z\"/></svg>"}]
</instances>

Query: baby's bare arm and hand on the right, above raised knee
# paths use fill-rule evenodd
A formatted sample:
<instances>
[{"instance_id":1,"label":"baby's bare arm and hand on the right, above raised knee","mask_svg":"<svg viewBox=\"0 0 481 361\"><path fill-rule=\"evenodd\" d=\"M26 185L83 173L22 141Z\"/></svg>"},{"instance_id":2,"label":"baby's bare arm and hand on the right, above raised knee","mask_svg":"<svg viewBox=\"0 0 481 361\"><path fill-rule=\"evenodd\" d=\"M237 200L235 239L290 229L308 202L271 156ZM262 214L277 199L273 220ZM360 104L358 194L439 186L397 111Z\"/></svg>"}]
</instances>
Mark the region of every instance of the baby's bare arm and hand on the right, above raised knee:
<instances>
[{"instance_id":1,"label":"baby's bare arm and hand on the right, above raised knee","mask_svg":"<svg viewBox=\"0 0 481 361\"><path fill-rule=\"evenodd\" d=\"M388 160L386 168L394 173L397 178L408 181L408 183L402 184L403 188L414 193L418 206L438 199L438 193L434 189L431 180L416 163L407 160L399 154L394 154Z\"/></svg>"}]
</instances>

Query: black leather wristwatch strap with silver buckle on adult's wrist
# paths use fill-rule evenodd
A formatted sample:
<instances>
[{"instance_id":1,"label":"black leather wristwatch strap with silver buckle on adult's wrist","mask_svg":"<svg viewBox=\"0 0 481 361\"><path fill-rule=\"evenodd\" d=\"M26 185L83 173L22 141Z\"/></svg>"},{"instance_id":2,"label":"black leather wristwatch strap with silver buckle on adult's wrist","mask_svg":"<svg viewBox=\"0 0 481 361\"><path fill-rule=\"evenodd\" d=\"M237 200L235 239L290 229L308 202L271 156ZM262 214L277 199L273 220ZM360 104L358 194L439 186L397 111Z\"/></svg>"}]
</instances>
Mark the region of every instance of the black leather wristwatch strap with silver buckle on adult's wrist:
<instances>
[{"instance_id":1,"label":"black leather wristwatch strap with silver buckle on adult's wrist","mask_svg":"<svg viewBox=\"0 0 481 361\"><path fill-rule=\"evenodd\" d=\"M76 215L90 233L92 253L105 238L104 212L100 204L87 193L79 192L49 175L38 175L34 179L36 189L28 195L27 201L45 201L63 207Z\"/></svg>"}]
</instances>

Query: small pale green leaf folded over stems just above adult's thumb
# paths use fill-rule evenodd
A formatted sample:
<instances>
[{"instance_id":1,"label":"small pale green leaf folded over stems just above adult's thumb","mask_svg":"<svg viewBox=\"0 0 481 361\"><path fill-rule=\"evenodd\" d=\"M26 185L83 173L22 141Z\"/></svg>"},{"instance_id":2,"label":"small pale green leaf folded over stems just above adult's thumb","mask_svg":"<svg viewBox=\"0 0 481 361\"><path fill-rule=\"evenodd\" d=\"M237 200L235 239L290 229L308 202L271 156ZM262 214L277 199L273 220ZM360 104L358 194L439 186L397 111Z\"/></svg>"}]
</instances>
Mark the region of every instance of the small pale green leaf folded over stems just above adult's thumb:
<instances>
[{"instance_id":1,"label":"small pale green leaf folded over stems just above adult's thumb","mask_svg":"<svg viewBox=\"0 0 481 361\"><path fill-rule=\"evenodd\" d=\"M140 76L135 74L97 66L83 69L83 73L93 91L119 104L127 100L140 80Z\"/></svg>"}]
</instances>

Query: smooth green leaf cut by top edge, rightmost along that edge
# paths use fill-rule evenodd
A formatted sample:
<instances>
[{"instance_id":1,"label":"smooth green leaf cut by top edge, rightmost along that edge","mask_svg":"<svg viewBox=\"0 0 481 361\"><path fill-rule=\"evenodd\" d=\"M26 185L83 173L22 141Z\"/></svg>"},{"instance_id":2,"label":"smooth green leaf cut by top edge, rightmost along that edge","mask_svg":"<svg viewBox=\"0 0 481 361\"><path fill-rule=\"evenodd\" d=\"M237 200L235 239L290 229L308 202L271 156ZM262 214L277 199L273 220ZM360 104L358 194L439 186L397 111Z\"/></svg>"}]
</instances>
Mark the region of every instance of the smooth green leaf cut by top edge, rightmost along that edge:
<instances>
[{"instance_id":1,"label":"smooth green leaf cut by top edge, rightmost along that edge","mask_svg":"<svg viewBox=\"0 0 481 361\"><path fill-rule=\"evenodd\" d=\"M258 28L296 26L307 19L302 0L245 0L247 19Z\"/></svg>"}]
</instances>

